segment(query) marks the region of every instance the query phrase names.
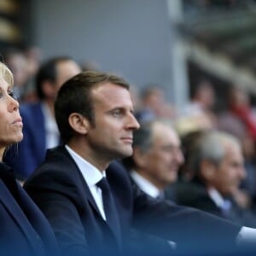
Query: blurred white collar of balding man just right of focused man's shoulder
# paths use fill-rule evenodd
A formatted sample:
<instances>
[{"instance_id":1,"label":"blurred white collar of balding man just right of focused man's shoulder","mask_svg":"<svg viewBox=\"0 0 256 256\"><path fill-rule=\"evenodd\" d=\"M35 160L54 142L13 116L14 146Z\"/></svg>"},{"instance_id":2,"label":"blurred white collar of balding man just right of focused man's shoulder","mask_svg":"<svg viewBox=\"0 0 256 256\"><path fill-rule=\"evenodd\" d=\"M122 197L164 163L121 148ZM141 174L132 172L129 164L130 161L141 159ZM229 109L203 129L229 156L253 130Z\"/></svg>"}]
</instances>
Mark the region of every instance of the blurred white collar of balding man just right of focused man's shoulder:
<instances>
[{"instance_id":1,"label":"blurred white collar of balding man just right of focused man's shoulder","mask_svg":"<svg viewBox=\"0 0 256 256\"><path fill-rule=\"evenodd\" d=\"M140 175L138 172L131 171L131 177L137 186L143 190L146 194L156 198L160 195L160 189L156 188L154 184L150 183L145 177Z\"/></svg>"}]
</instances>

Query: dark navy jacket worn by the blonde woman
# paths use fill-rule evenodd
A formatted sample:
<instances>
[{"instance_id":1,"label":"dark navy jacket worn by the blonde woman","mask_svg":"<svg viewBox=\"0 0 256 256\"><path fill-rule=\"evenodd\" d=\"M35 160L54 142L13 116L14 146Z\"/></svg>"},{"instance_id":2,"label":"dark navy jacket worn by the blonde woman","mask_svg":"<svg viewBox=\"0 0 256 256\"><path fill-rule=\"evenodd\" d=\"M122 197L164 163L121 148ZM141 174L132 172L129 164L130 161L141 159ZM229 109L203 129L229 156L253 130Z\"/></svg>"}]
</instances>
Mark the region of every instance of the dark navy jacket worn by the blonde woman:
<instances>
[{"instance_id":1,"label":"dark navy jacket worn by the blonde woman","mask_svg":"<svg viewBox=\"0 0 256 256\"><path fill-rule=\"evenodd\" d=\"M0 164L0 255L58 255L54 233L44 214Z\"/></svg>"}]
</instances>

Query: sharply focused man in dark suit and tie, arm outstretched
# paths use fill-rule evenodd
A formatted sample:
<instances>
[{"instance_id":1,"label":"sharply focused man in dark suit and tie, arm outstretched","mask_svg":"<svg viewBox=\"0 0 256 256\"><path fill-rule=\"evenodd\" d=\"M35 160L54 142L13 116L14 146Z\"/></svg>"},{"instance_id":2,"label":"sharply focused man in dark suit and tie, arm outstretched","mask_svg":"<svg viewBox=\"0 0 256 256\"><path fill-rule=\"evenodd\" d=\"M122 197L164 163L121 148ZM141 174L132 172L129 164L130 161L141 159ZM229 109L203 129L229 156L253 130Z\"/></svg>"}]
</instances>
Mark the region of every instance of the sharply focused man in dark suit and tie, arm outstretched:
<instances>
[{"instance_id":1,"label":"sharply focused man in dark suit and tie, arm outstretched","mask_svg":"<svg viewBox=\"0 0 256 256\"><path fill-rule=\"evenodd\" d=\"M112 160L132 154L139 125L128 89L115 75L85 72L59 90L55 118L65 145L49 149L25 189L49 219L61 253L124 253L131 227L177 242L182 253L230 251L240 225L154 200L121 168L105 172Z\"/></svg>"}]
</instances>

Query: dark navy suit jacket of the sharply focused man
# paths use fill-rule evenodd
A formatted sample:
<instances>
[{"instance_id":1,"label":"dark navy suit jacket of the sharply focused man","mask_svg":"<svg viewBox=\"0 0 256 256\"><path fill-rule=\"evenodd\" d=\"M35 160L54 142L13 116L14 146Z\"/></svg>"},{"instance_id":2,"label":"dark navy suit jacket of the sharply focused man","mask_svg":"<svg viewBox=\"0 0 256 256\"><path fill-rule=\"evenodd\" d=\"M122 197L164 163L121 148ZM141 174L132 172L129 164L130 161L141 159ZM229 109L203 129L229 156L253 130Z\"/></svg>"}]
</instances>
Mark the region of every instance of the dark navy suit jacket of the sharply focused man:
<instances>
[{"instance_id":1,"label":"dark navy suit jacket of the sharply focused man","mask_svg":"<svg viewBox=\"0 0 256 256\"><path fill-rule=\"evenodd\" d=\"M131 227L176 241L181 252L195 253L200 247L204 253L216 253L219 248L234 247L240 225L154 200L132 186L119 166L110 166L107 178L119 213L122 248L130 241ZM28 178L25 189L49 219L63 254L119 253L116 237L65 147L48 150L44 164ZM216 247L217 242L220 247Z\"/></svg>"}]
</instances>

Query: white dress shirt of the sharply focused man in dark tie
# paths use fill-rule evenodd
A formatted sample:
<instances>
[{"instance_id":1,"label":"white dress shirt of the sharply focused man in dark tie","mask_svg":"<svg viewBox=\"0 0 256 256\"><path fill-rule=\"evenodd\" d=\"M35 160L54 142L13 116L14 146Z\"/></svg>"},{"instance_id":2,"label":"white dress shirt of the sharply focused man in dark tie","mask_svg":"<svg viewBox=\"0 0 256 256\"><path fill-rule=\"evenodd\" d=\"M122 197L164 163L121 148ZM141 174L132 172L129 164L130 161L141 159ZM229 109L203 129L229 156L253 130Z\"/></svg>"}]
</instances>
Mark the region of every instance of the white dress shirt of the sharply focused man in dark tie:
<instances>
[{"instance_id":1,"label":"white dress shirt of the sharply focused man in dark tie","mask_svg":"<svg viewBox=\"0 0 256 256\"><path fill-rule=\"evenodd\" d=\"M102 177L106 177L106 172L99 171L95 166L92 166L88 161L84 160L79 154L75 153L73 149L65 145L69 154L71 154L73 160L79 166L79 170L84 177L85 183L87 183L90 193L96 201L96 206L102 214L102 218L106 220L102 201L102 189L96 186Z\"/></svg>"}]
</instances>

